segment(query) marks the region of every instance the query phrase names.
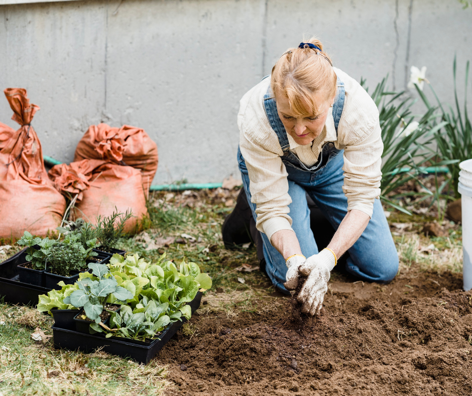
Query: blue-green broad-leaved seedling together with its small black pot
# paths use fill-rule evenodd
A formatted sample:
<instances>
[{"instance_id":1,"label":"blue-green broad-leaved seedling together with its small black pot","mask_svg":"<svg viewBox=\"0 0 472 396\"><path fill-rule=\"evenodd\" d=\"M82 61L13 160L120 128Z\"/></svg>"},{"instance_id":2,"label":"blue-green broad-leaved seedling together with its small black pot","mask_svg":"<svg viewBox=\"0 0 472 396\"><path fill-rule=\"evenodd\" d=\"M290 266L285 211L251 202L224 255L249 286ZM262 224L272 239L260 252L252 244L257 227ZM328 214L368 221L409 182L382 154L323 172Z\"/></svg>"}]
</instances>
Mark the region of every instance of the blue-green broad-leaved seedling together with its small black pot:
<instances>
[{"instance_id":1,"label":"blue-green broad-leaved seedling together with its small black pot","mask_svg":"<svg viewBox=\"0 0 472 396\"><path fill-rule=\"evenodd\" d=\"M74 318L77 331L82 333L88 333L93 322L95 324L105 324L110 313L120 308L119 305L108 303L110 298L126 302L134 297L129 290L118 285L106 265L91 263L88 264L88 267L97 280L84 278L78 281L79 289L64 299L65 304L82 308L82 311Z\"/></svg>"}]
</instances>

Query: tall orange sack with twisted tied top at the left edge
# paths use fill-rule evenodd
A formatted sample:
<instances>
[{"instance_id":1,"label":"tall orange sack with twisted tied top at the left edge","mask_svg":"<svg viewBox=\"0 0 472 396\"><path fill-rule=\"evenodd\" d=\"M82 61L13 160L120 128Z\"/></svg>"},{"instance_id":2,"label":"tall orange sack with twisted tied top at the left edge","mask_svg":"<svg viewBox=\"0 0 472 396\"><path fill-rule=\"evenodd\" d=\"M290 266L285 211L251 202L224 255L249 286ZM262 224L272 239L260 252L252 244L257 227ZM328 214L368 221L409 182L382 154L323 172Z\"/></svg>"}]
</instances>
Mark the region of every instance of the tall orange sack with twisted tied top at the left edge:
<instances>
[{"instance_id":1,"label":"tall orange sack with twisted tied top at the left edge","mask_svg":"<svg viewBox=\"0 0 472 396\"><path fill-rule=\"evenodd\" d=\"M25 230L45 236L61 225L66 201L48 178L41 143L31 126L39 107L30 105L26 89L4 92L12 120L21 128L15 131L0 123L0 238L20 239Z\"/></svg>"}]
</instances>

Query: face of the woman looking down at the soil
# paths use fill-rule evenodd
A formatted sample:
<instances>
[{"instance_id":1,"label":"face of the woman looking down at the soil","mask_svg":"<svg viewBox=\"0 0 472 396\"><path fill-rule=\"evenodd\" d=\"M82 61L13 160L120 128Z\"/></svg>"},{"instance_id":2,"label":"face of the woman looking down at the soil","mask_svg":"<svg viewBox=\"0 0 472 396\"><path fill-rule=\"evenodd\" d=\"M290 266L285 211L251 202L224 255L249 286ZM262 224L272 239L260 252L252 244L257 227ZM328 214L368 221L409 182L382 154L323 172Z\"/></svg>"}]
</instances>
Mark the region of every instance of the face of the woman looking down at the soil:
<instances>
[{"instance_id":1,"label":"face of the woman looking down at the soil","mask_svg":"<svg viewBox=\"0 0 472 396\"><path fill-rule=\"evenodd\" d=\"M318 96L319 95L319 96ZM284 94L277 95L277 113L287 133L300 145L310 144L322 131L329 108L334 101L326 101L322 94L315 95L315 103L321 104L318 114L296 116L290 109L288 97ZM310 108L310 106L305 106Z\"/></svg>"}]
</instances>

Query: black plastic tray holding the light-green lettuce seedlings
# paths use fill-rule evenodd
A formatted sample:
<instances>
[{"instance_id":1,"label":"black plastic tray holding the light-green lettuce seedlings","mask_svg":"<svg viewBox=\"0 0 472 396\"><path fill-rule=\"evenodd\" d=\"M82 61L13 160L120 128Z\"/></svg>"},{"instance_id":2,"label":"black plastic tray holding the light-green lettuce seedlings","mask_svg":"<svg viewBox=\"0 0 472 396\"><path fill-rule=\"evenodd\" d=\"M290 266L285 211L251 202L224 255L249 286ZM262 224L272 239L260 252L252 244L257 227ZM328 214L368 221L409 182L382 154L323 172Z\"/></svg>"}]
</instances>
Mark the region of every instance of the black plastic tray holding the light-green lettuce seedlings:
<instances>
[{"instance_id":1,"label":"black plastic tray holding the light-green lettuce seedlings","mask_svg":"<svg viewBox=\"0 0 472 396\"><path fill-rule=\"evenodd\" d=\"M195 298L188 303L192 309L192 314L200 307L202 293L199 291ZM97 348L102 348L104 352L118 355L124 358L131 358L138 363L148 364L149 361L167 344L172 336L187 322L182 318L182 322L171 323L160 335L159 339L150 343L136 343L127 341L126 338L111 337L104 338L103 335L90 335L72 330L61 329L55 323L52 327L54 336L54 347L65 348L72 351L82 351L86 353L94 352ZM142 345L147 344L147 345Z\"/></svg>"}]
</instances>

